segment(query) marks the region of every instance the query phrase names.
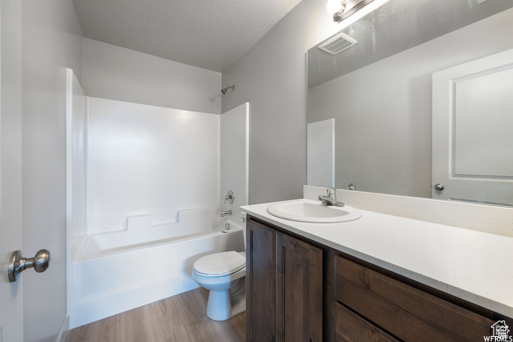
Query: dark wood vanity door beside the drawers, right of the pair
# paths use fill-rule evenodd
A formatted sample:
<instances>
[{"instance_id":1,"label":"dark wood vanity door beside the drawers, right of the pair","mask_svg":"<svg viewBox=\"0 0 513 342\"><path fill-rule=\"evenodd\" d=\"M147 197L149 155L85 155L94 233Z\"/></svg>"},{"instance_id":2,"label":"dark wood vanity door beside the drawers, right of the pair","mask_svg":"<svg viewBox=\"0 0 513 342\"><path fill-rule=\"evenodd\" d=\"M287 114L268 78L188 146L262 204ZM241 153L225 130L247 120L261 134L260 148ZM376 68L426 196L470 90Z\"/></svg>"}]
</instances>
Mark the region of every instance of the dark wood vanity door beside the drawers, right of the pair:
<instances>
[{"instance_id":1,"label":"dark wood vanity door beside the drawers, right of the pair","mask_svg":"<svg viewBox=\"0 0 513 342\"><path fill-rule=\"evenodd\" d=\"M322 250L276 233L276 341L322 341Z\"/></svg>"}]
</instances>

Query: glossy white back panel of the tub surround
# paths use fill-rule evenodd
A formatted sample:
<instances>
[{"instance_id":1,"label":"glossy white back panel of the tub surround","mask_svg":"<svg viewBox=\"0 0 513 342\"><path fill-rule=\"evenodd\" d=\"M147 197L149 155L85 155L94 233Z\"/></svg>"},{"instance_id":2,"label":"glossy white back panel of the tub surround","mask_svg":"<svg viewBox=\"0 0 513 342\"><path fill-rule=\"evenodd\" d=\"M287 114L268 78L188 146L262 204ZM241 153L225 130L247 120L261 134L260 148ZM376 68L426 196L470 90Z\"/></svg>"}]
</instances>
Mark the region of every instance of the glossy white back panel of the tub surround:
<instances>
[{"instance_id":1,"label":"glossy white back panel of the tub surround","mask_svg":"<svg viewBox=\"0 0 513 342\"><path fill-rule=\"evenodd\" d=\"M87 97L86 233L219 204L217 114Z\"/></svg>"}]
</instances>

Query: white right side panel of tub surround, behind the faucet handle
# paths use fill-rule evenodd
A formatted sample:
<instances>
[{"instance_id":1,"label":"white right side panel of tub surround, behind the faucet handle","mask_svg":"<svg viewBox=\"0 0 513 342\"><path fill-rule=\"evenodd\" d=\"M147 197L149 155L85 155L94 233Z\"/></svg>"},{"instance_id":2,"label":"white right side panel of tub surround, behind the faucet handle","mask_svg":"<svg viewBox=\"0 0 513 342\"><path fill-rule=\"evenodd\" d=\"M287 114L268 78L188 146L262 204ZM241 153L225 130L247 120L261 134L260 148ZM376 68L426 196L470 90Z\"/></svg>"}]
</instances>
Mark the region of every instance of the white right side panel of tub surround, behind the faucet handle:
<instances>
[{"instance_id":1,"label":"white right side panel of tub surround, behind the faucet handle","mask_svg":"<svg viewBox=\"0 0 513 342\"><path fill-rule=\"evenodd\" d=\"M231 210L232 219L238 222L240 207L248 205L249 103L223 113L220 128L220 204L223 210ZM224 203L229 190L233 192L232 204Z\"/></svg>"}]
</instances>

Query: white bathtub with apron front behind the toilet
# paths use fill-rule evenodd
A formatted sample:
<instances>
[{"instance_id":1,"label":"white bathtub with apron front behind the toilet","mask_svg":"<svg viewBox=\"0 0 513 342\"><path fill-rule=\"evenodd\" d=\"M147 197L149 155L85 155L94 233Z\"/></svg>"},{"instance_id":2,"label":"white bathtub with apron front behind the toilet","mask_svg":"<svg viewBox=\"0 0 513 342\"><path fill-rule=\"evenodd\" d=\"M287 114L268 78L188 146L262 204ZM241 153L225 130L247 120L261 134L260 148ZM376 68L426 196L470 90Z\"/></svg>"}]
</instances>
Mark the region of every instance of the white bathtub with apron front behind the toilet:
<instances>
[{"instance_id":1,"label":"white bathtub with apron front behind the toilet","mask_svg":"<svg viewBox=\"0 0 513 342\"><path fill-rule=\"evenodd\" d=\"M161 225L132 215L124 230L73 236L70 329L199 287L191 277L195 260L244 251L239 217L219 213L181 210L176 222Z\"/></svg>"}]
</instances>

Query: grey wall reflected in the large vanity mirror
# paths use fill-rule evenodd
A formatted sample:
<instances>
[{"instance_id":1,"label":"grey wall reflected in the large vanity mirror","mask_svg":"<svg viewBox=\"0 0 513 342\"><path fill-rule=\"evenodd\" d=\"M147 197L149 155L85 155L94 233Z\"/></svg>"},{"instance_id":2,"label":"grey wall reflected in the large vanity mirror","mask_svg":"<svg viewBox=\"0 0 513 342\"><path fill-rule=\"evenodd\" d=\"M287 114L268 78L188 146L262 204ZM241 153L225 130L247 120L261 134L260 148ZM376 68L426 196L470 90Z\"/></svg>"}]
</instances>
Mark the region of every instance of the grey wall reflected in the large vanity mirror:
<instances>
[{"instance_id":1,"label":"grey wall reflected in the large vanity mirror","mask_svg":"<svg viewBox=\"0 0 513 342\"><path fill-rule=\"evenodd\" d=\"M513 9L310 88L308 123L337 119L336 187L431 197L431 74L513 48L506 32Z\"/></svg>"}]
</instances>

